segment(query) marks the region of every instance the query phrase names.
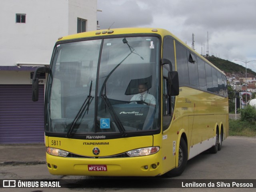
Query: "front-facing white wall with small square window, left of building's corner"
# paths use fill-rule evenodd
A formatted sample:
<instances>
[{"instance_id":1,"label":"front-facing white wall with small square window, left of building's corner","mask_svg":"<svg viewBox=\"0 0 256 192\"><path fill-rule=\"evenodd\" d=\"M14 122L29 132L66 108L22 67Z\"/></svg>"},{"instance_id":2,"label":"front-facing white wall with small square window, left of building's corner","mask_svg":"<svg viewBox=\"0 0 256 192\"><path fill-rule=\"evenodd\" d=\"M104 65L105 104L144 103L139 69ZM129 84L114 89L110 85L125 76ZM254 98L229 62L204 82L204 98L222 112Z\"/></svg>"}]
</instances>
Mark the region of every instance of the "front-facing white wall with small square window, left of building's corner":
<instances>
[{"instance_id":1,"label":"front-facing white wall with small square window, left of building's corner","mask_svg":"<svg viewBox=\"0 0 256 192\"><path fill-rule=\"evenodd\" d=\"M50 62L54 42L67 34L68 6L63 0L2 0L0 12L0 66L16 62ZM58 13L58 14L57 14ZM26 23L16 23L16 14L26 14Z\"/></svg>"}]
</instances>

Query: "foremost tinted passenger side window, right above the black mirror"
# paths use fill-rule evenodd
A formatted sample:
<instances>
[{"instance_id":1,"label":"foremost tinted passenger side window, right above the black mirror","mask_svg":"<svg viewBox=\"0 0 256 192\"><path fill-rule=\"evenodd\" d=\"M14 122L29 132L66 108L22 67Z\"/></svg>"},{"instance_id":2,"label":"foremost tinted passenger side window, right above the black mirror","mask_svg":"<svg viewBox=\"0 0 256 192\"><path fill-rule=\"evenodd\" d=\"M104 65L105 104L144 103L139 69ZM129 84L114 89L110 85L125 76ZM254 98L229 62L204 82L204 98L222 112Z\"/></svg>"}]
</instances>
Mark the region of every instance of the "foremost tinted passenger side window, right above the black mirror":
<instances>
[{"instance_id":1,"label":"foremost tinted passenger side window, right above the black mirror","mask_svg":"<svg viewBox=\"0 0 256 192\"><path fill-rule=\"evenodd\" d=\"M179 43L176 43L176 60L180 85L189 85L187 51Z\"/></svg>"}]
</instances>

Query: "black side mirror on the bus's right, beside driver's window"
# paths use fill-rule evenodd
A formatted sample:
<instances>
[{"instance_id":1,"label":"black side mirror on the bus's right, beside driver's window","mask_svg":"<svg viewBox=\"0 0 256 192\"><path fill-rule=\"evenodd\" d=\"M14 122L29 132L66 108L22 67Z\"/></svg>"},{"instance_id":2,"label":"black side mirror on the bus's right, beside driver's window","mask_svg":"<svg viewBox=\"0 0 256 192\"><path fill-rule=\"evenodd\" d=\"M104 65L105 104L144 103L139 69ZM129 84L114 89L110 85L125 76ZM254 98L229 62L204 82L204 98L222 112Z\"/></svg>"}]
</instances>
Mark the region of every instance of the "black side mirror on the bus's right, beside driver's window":
<instances>
[{"instance_id":1,"label":"black side mirror on the bus's right, beside driver's window","mask_svg":"<svg viewBox=\"0 0 256 192\"><path fill-rule=\"evenodd\" d=\"M168 88L170 96L177 96L180 94L179 77L177 71L168 72Z\"/></svg>"}]
</instances>

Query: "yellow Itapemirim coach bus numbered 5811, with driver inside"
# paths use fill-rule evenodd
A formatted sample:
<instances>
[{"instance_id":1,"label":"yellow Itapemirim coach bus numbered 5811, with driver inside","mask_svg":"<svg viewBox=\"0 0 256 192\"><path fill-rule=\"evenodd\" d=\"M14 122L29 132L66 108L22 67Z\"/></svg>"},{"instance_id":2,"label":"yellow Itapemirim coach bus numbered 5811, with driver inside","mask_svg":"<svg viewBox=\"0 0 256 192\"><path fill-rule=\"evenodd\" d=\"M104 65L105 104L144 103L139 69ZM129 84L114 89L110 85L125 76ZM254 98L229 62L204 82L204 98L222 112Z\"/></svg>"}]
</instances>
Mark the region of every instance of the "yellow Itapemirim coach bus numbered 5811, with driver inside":
<instances>
[{"instance_id":1,"label":"yellow Itapemirim coach bus numbered 5811, with driver inside","mask_svg":"<svg viewBox=\"0 0 256 192\"><path fill-rule=\"evenodd\" d=\"M228 136L225 74L167 30L59 38L34 101L37 72L51 174L178 176Z\"/></svg>"}]
</instances>

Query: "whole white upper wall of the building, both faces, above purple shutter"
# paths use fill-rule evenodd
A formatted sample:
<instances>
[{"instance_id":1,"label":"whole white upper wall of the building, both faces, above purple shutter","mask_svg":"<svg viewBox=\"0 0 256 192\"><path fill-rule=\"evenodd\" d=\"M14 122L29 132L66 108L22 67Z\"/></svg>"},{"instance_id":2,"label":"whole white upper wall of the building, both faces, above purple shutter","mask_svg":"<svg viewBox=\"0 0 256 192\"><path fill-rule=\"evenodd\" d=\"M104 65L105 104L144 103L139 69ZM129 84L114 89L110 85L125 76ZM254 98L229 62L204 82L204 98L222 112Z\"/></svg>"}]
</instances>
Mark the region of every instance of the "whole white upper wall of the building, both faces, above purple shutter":
<instances>
[{"instance_id":1,"label":"whole white upper wall of the building, both faces, above purple shutter","mask_svg":"<svg viewBox=\"0 0 256 192\"><path fill-rule=\"evenodd\" d=\"M1 0L0 66L50 63L56 40L77 32L78 17L96 30L96 6L96 0ZM26 14L26 23L16 23L16 14Z\"/></svg>"}]
</instances>

